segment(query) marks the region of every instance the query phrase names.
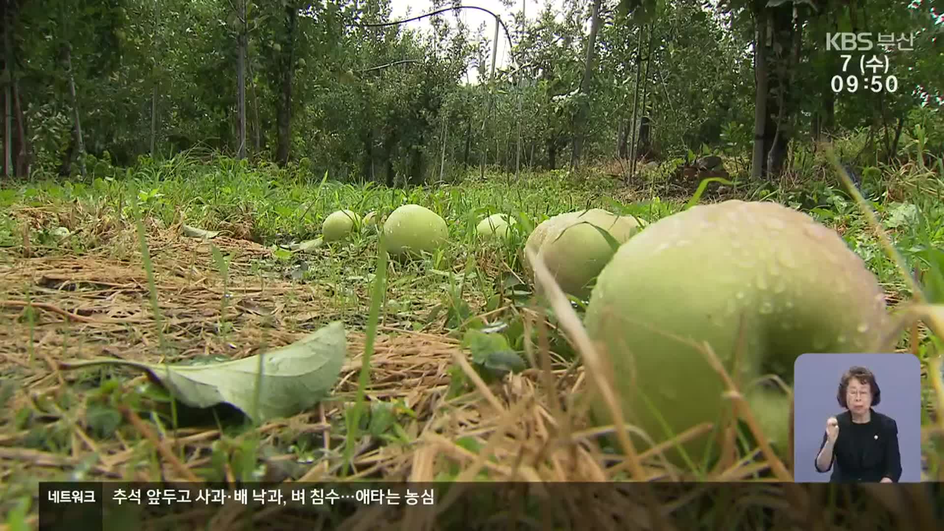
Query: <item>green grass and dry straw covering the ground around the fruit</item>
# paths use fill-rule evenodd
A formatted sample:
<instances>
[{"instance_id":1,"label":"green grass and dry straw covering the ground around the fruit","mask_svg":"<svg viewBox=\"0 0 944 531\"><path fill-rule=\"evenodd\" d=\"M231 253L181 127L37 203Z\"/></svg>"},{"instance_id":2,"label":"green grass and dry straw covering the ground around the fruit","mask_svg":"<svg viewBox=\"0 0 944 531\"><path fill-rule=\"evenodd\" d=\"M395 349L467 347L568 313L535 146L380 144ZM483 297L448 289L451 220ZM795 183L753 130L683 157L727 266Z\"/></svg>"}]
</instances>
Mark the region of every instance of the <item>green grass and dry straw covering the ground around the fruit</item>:
<instances>
[{"instance_id":1,"label":"green grass and dry straw covering the ground around the fruit","mask_svg":"<svg viewBox=\"0 0 944 531\"><path fill-rule=\"evenodd\" d=\"M829 164L818 164L809 174L827 175ZM725 449L734 457L688 471L666 469L660 459L673 441L649 445L628 435L632 426L594 426L580 397L588 382L599 385L604 366L583 332L582 306L555 292L541 267L537 281L551 295L548 304L537 303L522 273L519 249L547 216L600 207L652 222L682 209L698 182L653 172L624 187L591 168L392 190L339 184L304 167L185 155L93 169L88 182L34 180L0 189L0 512L8 514L0 529L35 526L38 481L459 482L437 503L442 512L464 496L488 497L460 485L469 481L790 477L790 456L771 449L743 407L740 443ZM842 234L899 305L920 297L902 268L944 242L941 184L940 172L923 163L877 168L863 185L874 221L838 183L797 175L726 190L712 183L700 200L777 200L809 212ZM335 210L389 213L405 203L447 219L445 248L420 261L388 261L370 230L307 251L286 248L316 238ZM478 221L493 213L520 221L508 244L477 240ZM885 232L874 230L876 222ZM183 225L219 235L185 237ZM889 243L900 264L888 258ZM290 419L254 423L222 407L194 410L121 368L59 368L60 361L93 356L150 363L242 358L334 320L347 331L340 381L329 401ZM944 397L939 371L927 371L939 339L923 325L908 327L899 347L919 355L932 410ZM727 378L719 365L718 372ZM607 402L618 407L614 397ZM615 418L618 427L622 417ZM923 422L925 475L939 479L944 469L933 443L944 420L925 413ZM704 430L693 426L676 440ZM614 433L615 444L605 437ZM705 524L733 515L758 528L764 510L818 499L789 485L690 494L653 487L632 501L642 512L622 518L655 518L646 508L655 504L663 516L707 518ZM598 491L555 510L589 511L612 526L607 519L618 495ZM686 512L693 507L704 510ZM370 510L383 519L393 509ZM534 518L544 512L522 510Z\"/></svg>"}]
</instances>

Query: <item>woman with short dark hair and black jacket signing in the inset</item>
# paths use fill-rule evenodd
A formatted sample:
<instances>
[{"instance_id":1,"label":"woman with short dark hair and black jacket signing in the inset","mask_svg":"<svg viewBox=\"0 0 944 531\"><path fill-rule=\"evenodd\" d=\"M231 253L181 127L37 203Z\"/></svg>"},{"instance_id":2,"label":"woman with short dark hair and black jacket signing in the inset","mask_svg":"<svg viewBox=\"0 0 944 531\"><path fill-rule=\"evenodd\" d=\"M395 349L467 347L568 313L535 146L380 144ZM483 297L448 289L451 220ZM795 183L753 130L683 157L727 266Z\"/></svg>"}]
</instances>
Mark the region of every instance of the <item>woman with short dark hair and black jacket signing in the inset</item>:
<instances>
[{"instance_id":1,"label":"woman with short dark hair and black jacket signing in the inset","mask_svg":"<svg viewBox=\"0 0 944 531\"><path fill-rule=\"evenodd\" d=\"M897 483L902 477L898 424L872 409L882 400L875 375L868 368L849 368L839 380L836 400L846 411L826 420L817 471L832 468L834 482Z\"/></svg>"}]
</instances>

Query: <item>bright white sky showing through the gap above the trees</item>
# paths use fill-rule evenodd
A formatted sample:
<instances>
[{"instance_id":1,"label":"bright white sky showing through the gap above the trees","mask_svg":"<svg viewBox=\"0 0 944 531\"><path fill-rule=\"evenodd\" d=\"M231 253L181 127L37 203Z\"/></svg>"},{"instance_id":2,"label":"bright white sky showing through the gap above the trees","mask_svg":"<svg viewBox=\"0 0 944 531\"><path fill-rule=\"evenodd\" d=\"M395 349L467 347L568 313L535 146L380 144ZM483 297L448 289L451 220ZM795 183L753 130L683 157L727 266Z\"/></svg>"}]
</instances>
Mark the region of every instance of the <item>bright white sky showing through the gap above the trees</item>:
<instances>
[{"instance_id":1,"label":"bright white sky showing through the gap above the trees","mask_svg":"<svg viewBox=\"0 0 944 531\"><path fill-rule=\"evenodd\" d=\"M529 20L534 20L537 18L537 15L545 9L547 4L550 4L558 12L562 10L564 6L563 0L514 0L514 7L509 9L501 5L499 0L464 0L464 6L475 6L477 8L488 9L493 13L497 13L501 17L501 22L505 25L511 25L514 21L514 13L521 12L522 3L525 5L525 15ZM390 2L391 9L393 10L391 20L400 20L404 18L414 17L421 15L423 13L429 13L432 11L432 2L430 0L391 0ZM407 15L409 9L409 17ZM455 26L455 19L452 12L444 13L445 19L450 23L451 26ZM484 11L478 9L461 9L460 18L462 19L465 26L469 28L473 34L479 28L482 23L485 23L484 37L485 40L492 44L492 37L495 35L495 18L489 15ZM430 18L425 18L419 21L413 21L405 25L411 29L429 29ZM496 61L496 68L501 68L502 66L508 66L510 58L508 57L508 38L504 35L503 29L498 29L498 55Z\"/></svg>"}]
</instances>

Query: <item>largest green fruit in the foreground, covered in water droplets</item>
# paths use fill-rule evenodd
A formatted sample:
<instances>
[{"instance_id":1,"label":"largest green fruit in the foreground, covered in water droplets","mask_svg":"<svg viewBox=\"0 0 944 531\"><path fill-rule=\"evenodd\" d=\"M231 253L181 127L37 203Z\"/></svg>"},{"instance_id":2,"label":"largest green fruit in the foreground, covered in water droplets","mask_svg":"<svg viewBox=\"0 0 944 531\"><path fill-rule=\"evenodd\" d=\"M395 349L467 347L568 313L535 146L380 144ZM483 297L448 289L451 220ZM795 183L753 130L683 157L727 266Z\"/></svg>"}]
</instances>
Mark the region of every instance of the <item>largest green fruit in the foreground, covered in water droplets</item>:
<instances>
[{"instance_id":1,"label":"largest green fruit in the foreground, covered in water droplets","mask_svg":"<svg viewBox=\"0 0 944 531\"><path fill-rule=\"evenodd\" d=\"M668 216L620 247L584 324L612 360L625 420L657 443L717 422L730 403L705 355L667 333L710 345L784 449L789 400L752 381L792 382L804 352L886 349L887 321L883 290L835 231L775 203L730 200ZM612 422L599 397L594 413ZM684 445L696 465L709 438Z\"/></svg>"}]
</instances>

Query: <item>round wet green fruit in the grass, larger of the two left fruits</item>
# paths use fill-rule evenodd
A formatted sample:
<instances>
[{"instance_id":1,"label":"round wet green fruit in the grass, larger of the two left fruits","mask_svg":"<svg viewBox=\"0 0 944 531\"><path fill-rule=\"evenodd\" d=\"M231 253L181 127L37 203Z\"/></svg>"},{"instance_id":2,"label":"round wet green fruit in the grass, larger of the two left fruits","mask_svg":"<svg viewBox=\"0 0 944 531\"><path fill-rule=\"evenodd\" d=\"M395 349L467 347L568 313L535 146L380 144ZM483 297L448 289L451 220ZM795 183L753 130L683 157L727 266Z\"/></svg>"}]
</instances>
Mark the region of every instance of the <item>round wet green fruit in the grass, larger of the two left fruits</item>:
<instances>
[{"instance_id":1,"label":"round wet green fruit in the grass, larger of the two left fruits","mask_svg":"<svg viewBox=\"0 0 944 531\"><path fill-rule=\"evenodd\" d=\"M383 224L387 252L392 256L417 256L433 252L446 243L446 221L426 207L403 205L390 213Z\"/></svg>"}]
</instances>

